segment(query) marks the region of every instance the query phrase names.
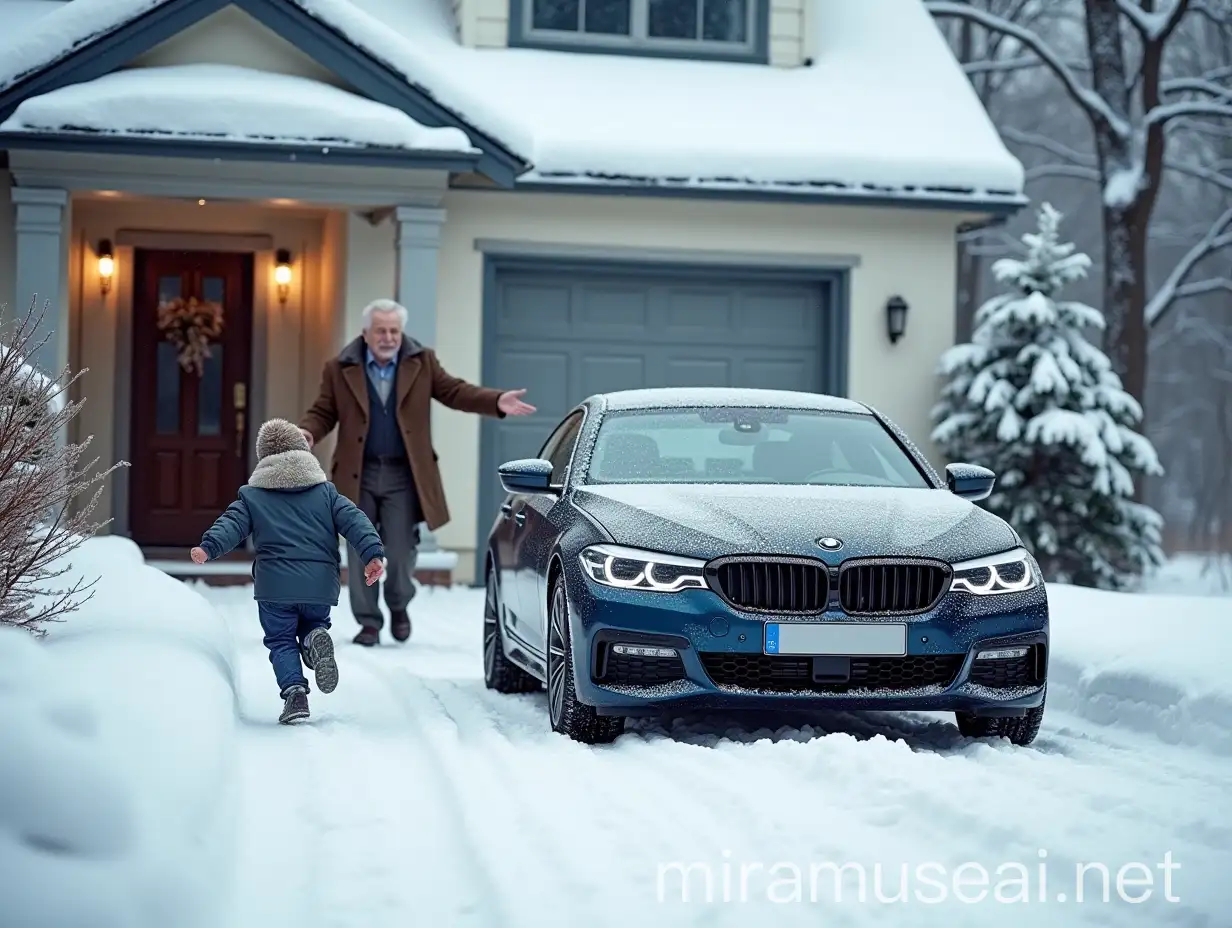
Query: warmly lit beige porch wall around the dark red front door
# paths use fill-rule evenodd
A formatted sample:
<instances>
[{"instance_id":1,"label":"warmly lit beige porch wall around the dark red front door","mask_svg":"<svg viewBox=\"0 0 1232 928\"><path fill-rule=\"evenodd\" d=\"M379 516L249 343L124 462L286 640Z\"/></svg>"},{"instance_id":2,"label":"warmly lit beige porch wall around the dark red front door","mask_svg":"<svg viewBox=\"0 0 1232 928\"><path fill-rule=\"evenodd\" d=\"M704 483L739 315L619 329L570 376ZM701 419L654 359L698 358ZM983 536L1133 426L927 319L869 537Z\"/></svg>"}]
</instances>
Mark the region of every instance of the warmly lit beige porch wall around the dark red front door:
<instances>
[{"instance_id":1,"label":"warmly lit beige porch wall around the dark red front door","mask_svg":"<svg viewBox=\"0 0 1232 928\"><path fill-rule=\"evenodd\" d=\"M265 234L272 249L256 254L254 269L254 325L264 320L265 351L253 360L254 377L265 389L264 409L254 408L255 419L269 417L298 419L312 402L320 365L334 345L333 314L328 303L339 282L330 277L331 259L325 251L324 213L296 210L271 210L246 205L166 200L116 198L76 200L73 208L70 267L80 279L71 302L73 332L70 361L75 370L89 368L81 381L86 404L76 421L74 439L92 435L91 452L110 465L122 458L126 449L115 444L120 408L116 391L124 371L117 370L120 308L132 299L133 249L116 246L116 272L110 293L99 287L96 244L102 238L118 242L122 230L142 230L164 235L160 246L176 248L176 235L222 233L232 235ZM182 244L182 239L180 240ZM274 249L287 248L292 255L292 285L286 304L277 301L274 283ZM256 385L254 383L254 387ZM255 433L254 433L255 434ZM131 474L131 471L129 471ZM100 504L103 518L113 511L108 482Z\"/></svg>"}]
</instances>

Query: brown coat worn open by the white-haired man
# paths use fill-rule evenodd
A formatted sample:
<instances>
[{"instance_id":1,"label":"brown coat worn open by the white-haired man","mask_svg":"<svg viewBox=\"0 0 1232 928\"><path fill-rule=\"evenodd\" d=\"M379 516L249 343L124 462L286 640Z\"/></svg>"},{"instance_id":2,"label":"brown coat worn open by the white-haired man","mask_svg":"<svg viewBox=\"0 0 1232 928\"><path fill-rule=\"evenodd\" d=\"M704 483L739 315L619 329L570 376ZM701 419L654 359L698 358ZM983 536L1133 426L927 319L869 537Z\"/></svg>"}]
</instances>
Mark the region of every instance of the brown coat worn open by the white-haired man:
<instances>
[{"instance_id":1,"label":"brown coat worn open by the white-haired man","mask_svg":"<svg viewBox=\"0 0 1232 928\"><path fill-rule=\"evenodd\" d=\"M320 377L320 396L299 420L299 428L320 441L338 425L338 444L330 479L339 493L352 503L360 502L360 473L363 470L363 444L368 436L368 387L363 339L356 338L338 357L325 362ZM503 418L496 408L501 391L477 387L453 377L441 367L436 352L403 335L398 352L398 426L410 458L410 470L429 530L450 520L432 447L431 401L451 409Z\"/></svg>"}]
</instances>

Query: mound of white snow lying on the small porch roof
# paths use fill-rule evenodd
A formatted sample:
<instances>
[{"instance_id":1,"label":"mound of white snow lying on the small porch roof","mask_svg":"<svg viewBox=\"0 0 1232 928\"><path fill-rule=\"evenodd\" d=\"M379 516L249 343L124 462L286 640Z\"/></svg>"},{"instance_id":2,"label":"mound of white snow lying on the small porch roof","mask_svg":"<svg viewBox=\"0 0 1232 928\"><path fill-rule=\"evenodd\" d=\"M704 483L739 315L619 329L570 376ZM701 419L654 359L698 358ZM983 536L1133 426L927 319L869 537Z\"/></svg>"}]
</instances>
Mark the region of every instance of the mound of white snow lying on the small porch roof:
<instances>
[{"instance_id":1,"label":"mound of white snow lying on the small porch roof","mask_svg":"<svg viewBox=\"0 0 1232 928\"><path fill-rule=\"evenodd\" d=\"M456 128L290 74L227 64L132 68L25 100L2 132L477 152Z\"/></svg>"}]
</instances>

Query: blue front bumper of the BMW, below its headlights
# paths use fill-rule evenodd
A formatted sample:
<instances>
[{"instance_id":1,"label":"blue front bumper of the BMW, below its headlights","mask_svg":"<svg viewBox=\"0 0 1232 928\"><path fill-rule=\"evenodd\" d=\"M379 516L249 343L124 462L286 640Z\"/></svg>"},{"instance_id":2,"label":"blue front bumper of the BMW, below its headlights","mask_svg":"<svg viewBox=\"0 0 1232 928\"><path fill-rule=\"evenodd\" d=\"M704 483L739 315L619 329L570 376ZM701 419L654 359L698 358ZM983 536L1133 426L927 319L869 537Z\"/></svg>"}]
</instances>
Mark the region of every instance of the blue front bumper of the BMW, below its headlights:
<instances>
[{"instance_id":1,"label":"blue front bumper of the BMW, below its headlights","mask_svg":"<svg viewBox=\"0 0 1232 928\"><path fill-rule=\"evenodd\" d=\"M870 619L841 611L764 616L733 609L712 590L621 590L580 572L569 587L578 695L605 715L880 709L1020 716L1044 702L1042 588L1000 596L949 593L928 613ZM906 624L907 656L765 654L766 621ZM671 648L675 656L621 654L617 643ZM1010 647L1027 653L977 659L981 651Z\"/></svg>"}]
</instances>

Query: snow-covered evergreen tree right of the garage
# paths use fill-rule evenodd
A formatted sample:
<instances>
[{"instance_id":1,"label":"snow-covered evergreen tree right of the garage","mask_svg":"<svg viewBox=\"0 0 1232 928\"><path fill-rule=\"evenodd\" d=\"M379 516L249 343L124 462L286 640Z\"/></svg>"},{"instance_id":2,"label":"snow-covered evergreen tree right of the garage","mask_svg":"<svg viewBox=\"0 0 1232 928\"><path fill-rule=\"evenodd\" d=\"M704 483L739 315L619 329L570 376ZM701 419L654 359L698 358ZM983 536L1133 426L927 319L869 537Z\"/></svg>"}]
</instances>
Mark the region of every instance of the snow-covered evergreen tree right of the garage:
<instances>
[{"instance_id":1,"label":"snow-covered evergreen tree right of the garage","mask_svg":"<svg viewBox=\"0 0 1232 928\"><path fill-rule=\"evenodd\" d=\"M1009 292L976 313L970 344L941 357L933 440L997 472L986 508L1013 525L1048 580L1125 589L1162 562L1162 519L1135 502L1135 474L1162 473L1136 428L1142 408L1085 335L1104 315L1061 299L1090 259L1060 240L1045 203L1026 255L993 275Z\"/></svg>"}]
</instances>

